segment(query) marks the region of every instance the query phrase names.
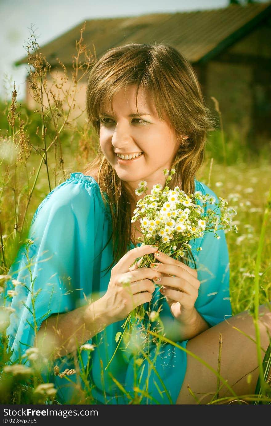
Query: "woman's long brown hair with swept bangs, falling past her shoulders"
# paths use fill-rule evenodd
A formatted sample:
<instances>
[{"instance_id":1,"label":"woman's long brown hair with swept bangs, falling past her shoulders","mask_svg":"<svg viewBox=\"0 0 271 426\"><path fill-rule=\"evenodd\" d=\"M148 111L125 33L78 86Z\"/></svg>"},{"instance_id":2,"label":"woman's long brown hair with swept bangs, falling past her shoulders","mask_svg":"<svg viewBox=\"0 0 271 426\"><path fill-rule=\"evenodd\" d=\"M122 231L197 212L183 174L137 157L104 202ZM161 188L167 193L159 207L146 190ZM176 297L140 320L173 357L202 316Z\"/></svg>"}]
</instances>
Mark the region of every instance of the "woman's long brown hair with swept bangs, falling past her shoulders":
<instances>
[{"instance_id":1,"label":"woman's long brown hair with swept bangs, falling past her shoulders","mask_svg":"<svg viewBox=\"0 0 271 426\"><path fill-rule=\"evenodd\" d=\"M128 85L136 85L137 93L139 89L149 93L158 117L168 118L180 141L183 135L188 136L180 143L172 164L176 173L171 187L178 185L186 193L193 193L195 174L204 160L207 131L214 123L192 66L166 44L129 43L108 50L94 63L87 85L87 115L98 136L102 104L112 107L114 95ZM111 211L114 250L111 267L127 252L131 242L132 194L100 147L83 173L92 176L94 171L104 202Z\"/></svg>"}]
</instances>

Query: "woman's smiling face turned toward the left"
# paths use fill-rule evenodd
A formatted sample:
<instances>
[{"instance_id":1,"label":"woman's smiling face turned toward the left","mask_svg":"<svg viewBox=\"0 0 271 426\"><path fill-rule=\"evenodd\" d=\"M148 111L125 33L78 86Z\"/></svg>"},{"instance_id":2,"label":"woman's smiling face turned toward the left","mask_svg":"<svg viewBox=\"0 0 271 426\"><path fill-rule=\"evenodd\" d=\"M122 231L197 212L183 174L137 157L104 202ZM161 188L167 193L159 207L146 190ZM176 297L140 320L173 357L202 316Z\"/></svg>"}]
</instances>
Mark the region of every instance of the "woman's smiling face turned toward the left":
<instances>
[{"instance_id":1,"label":"woman's smiling face turned toward the left","mask_svg":"<svg viewBox=\"0 0 271 426\"><path fill-rule=\"evenodd\" d=\"M112 110L102 105L99 141L122 181L135 190L144 180L151 190L157 183L164 186L163 169L170 170L179 141L150 96L139 89L136 99L136 92L136 85L127 86L114 96Z\"/></svg>"}]
</instances>

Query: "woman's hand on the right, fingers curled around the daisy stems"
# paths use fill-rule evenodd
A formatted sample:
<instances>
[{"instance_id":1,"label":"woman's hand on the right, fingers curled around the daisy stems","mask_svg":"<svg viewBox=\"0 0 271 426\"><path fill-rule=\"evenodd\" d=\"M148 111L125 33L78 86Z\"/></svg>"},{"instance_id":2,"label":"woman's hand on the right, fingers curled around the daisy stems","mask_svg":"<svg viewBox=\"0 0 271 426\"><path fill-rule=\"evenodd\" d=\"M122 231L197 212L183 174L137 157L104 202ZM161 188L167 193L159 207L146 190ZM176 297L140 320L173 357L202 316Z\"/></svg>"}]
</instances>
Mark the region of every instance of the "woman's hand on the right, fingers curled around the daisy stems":
<instances>
[{"instance_id":1,"label":"woman's hand on the right, fingers curled around the daisy stems","mask_svg":"<svg viewBox=\"0 0 271 426\"><path fill-rule=\"evenodd\" d=\"M200 282L195 269L184 263L156 251L154 256L161 263L152 263L151 268L163 276L158 276L154 282L163 286L161 294L166 298L173 317L181 324L181 336L190 339L209 326L195 309Z\"/></svg>"}]
</instances>

